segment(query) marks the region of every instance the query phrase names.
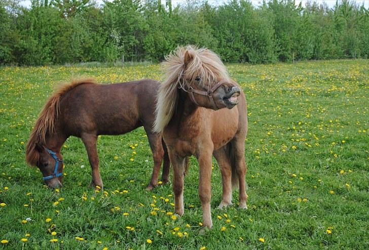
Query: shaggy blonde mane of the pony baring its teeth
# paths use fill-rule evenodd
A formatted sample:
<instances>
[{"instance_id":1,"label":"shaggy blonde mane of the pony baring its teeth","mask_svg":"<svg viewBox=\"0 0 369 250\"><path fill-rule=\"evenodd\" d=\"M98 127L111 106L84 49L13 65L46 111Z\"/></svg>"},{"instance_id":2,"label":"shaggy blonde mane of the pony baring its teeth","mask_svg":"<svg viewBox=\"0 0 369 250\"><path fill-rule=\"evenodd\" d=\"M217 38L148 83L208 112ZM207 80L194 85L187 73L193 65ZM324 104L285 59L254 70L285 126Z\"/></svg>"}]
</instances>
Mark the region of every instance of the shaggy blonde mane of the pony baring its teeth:
<instances>
[{"instance_id":1,"label":"shaggy blonde mane of the pony baring its teeth","mask_svg":"<svg viewBox=\"0 0 369 250\"><path fill-rule=\"evenodd\" d=\"M191 56L187 64L186 52ZM178 102L178 87L183 88L185 81L191 84L200 77L202 84L210 89L219 79L229 80L228 71L218 55L206 48L178 47L165 57L162 68L165 80L159 89L154 123L154 131L158 133L173 117Z\"/></svg>"}]
</instances>

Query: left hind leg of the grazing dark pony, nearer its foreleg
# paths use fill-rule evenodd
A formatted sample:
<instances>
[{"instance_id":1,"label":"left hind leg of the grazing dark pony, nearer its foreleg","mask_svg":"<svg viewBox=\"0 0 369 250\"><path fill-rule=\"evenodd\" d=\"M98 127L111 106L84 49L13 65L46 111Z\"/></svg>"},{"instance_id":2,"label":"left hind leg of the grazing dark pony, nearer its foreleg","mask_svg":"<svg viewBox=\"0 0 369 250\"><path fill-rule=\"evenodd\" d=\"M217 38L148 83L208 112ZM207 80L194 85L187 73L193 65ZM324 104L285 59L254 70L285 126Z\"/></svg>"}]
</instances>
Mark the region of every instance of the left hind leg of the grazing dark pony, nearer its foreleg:
<instances>
[{"instance_id":1,"label":"left hind leg of the grazing dark pony, nearer its foreleg","mask_svg":"<svg viewBox=\"0 0 369 250\"><path fill-rule=\"evenodd\" d=\"M160 172L160 165L164 157L164 149L162 145L161 134L147 134L147 139L149 139L151 151L153 152L154 169L150 183L149 185L147 185L146 190L152 190L158 185L158 177Z\"/></svg>"}]
</instances>

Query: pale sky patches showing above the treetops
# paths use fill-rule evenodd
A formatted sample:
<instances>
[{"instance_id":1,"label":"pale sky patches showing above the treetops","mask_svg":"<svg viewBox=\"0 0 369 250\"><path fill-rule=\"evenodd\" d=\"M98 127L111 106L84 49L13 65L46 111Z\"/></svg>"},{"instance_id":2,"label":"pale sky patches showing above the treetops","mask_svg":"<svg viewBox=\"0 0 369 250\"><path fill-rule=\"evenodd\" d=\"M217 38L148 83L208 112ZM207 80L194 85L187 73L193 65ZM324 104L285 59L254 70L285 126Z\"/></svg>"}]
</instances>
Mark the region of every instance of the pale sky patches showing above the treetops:
<instances>
[{"instance_id":1,"label":"pale sky patches showing above the treetops","mask_svg":"<svg viewBox=\"0 0 369 250\"><path fill-rule=\"evenodd\" d=\"M163 4L165 4L165 0L161 0ZM230 0L208 0L208 3L211 5L222 5L223 3L229 2ZM295 0L296 5L299 5L302 2L302 6L304 7L306 2L312 2L311 0ZM31 1L30 0L21 0L21 5L25 7L30 7ZM263 0L251 0L254 6L259 6L263 3ZM317 3L326 3L329 8L333 8L336 5L336 0L315 0L314 2ZM350 0L350 2L355 2L359 6L364 4L366 9L369 9L369 0ZM96 3L102 4L102 0L96 0ZM172 0L172 5L176 6L178 4L186 3L186 0Z\"/></svg>"}]
</instances>

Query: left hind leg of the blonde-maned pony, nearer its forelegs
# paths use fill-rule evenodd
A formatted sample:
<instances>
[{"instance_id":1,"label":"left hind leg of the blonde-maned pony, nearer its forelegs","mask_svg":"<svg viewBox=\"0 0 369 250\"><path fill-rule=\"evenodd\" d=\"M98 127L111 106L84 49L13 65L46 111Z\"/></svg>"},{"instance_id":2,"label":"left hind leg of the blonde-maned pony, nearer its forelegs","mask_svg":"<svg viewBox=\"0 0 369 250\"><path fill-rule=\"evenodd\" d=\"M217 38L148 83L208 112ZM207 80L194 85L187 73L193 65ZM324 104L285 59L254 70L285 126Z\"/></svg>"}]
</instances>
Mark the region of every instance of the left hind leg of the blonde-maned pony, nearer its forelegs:
<instances>
[{"instance_id":1,"label":"left hind leg of the blonde-maned pony, nearer its forelegs","mask_svg":"<svg viewBox=\"0 0 369 250\"><path fill-rule=\"evenodd\" d=\"M222 174L223 195L218 209L223 209L228 205L232 205L232 169L231 160L226 152L226 146L213 152L216 161L219 164L220 173Z\"/></svg>"}]
</instances>

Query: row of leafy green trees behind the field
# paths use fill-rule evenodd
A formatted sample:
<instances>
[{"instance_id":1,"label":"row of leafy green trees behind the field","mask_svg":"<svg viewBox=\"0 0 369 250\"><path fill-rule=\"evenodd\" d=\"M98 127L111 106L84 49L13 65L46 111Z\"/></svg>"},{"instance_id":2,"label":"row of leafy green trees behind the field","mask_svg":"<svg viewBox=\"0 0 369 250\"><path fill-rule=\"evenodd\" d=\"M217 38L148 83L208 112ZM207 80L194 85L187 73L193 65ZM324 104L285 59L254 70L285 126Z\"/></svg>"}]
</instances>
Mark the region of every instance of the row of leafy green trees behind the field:
<instances>
[{"instance_id":1,"label":"row of leafy green trees behind the field","mask_svg":"<svg viewBox=\"0 0 369 250\"><path fill-rule=\"evenodd\" d=\"M369 58L369 12L291 0L212 6L171 0L0 0L0 64L161 61L178 45L198 45L226 62Z\"/></svg>"}]
</instances>

